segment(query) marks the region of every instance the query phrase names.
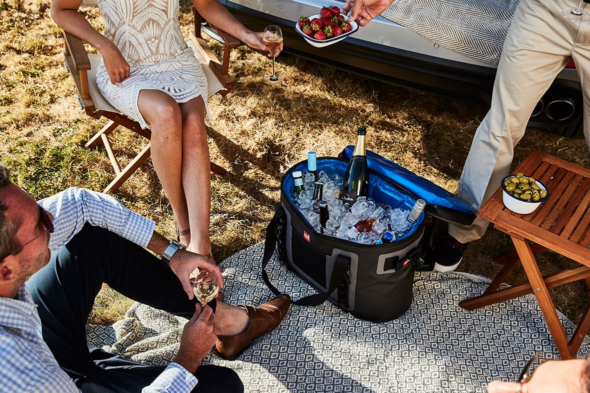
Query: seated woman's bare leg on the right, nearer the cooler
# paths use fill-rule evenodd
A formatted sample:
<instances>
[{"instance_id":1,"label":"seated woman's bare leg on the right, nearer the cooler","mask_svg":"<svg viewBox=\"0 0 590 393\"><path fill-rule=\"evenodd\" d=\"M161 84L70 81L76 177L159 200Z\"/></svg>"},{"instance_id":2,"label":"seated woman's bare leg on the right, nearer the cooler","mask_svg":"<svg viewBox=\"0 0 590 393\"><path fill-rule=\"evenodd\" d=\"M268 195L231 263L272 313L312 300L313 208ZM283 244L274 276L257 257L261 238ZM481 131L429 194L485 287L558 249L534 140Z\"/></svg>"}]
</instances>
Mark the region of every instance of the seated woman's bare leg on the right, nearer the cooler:
<instances>
[{"instance_id":1,"label":"seated woman's bare leg on the right, nearer the cooler","mask_svg":"<svg viewBox=\"0 0 590 393\"><path fill-rule=\"evenodd\" d=\"M182 112L182 186L191 222L192 252L211 252L209 217L211 216L211 165L205 103L201 97L179 104Z\"/></svg>"}]
</instances>

